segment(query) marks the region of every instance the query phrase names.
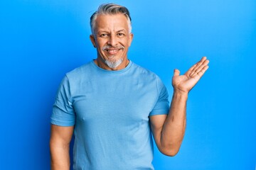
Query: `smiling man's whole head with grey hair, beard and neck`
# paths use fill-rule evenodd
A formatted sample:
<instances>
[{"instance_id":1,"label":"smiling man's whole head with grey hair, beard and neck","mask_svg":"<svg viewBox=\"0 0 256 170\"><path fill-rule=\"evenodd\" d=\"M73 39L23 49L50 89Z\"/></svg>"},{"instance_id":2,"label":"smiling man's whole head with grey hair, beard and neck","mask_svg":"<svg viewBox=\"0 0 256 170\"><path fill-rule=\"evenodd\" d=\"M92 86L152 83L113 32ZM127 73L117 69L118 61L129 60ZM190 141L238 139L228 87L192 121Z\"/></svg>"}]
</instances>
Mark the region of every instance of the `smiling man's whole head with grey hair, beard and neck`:
<instances>
[{"instance_id":1,"label":"smiling man's whole head with grey hair, beard and neck","mask_svg":"<svg viewBox=\"0 0 256 170\"><path fill-rule=\"evenodd\" d=\"M97 48L97 64L104 69L123 69L132 43L131 18L124 6L103 4L90 18L90 40Z\"/></svg>"}]
</instances>

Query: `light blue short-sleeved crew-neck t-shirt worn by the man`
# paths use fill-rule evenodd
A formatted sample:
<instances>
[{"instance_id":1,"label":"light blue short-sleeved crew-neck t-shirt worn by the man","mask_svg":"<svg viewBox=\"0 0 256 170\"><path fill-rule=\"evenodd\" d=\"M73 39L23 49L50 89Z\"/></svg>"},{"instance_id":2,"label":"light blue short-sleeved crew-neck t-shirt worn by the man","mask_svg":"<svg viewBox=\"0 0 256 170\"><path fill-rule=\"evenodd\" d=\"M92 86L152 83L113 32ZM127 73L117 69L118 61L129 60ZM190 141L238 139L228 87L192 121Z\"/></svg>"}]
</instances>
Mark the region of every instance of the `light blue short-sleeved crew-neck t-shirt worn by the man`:
<instances>
[{"instance_id":1,"label":"light blue short-sleeved crew-neck t-shirt worn by the man","mask_svg":"<svg viewBox=\"0 0 256 170\"><path fill-rule=\"evenodd\" d=\"M92 61L66 74L51 123L75 125L73 169L154 169L149 116L168 112L156 74L132 61L118 71Z\"/></svg>"}]
</instances>

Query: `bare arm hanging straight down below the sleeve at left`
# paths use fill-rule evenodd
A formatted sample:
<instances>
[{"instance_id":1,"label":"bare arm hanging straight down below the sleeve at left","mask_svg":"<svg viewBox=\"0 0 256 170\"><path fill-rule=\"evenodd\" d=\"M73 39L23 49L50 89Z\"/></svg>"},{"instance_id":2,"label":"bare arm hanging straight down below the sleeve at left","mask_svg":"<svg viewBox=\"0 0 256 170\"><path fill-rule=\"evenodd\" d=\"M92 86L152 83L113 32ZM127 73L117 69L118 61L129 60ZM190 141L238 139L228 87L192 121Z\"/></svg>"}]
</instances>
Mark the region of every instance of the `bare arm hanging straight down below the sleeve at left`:
<instances>
[{"instance_id":1,"label":"bare arm hanging straight down below the sleeve at left","mask_svg":"<svg viewBox=\"0 0 256 170\"><path fill-rule=\"evenodd\" d=\"M70 169L69 149L73 129L73 126L63 127L51 125L50 156L52 170Z\"/></svg>"}]
</instances>

